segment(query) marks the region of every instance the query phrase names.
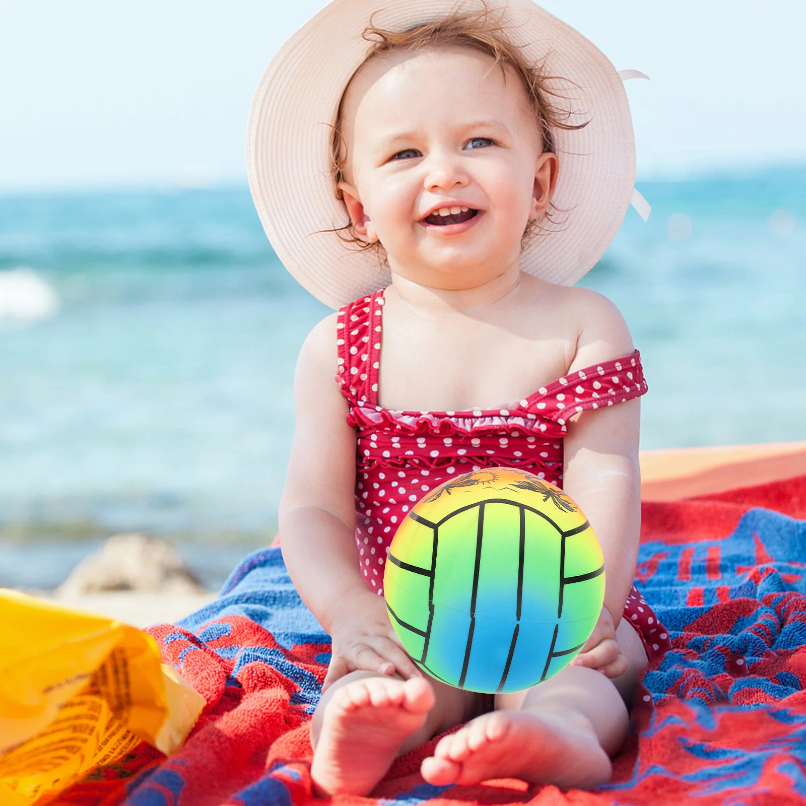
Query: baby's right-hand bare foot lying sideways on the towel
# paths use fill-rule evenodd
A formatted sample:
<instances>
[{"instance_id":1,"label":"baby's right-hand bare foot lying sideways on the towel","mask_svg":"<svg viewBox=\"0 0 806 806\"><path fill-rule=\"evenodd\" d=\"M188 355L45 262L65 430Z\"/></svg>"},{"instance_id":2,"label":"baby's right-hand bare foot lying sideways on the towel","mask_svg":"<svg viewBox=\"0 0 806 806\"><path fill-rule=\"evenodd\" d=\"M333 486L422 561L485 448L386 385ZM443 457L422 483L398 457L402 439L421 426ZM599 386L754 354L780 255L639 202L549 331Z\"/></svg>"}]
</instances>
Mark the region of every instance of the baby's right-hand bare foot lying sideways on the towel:
<instances>
[{"instance_id":1,"label":"baby's right-hand bare foot lying sideways on the towel","mask_svg":"<svg viewBox=\"0 0 806 806\"><path fill-rule=\"evenodd\" d=\"M434 786L520 778L589 788L609 781L612 767L584 717L526 710L495 711L468 722L438 743L421 772Z\"/></svg>"}]
</instances>

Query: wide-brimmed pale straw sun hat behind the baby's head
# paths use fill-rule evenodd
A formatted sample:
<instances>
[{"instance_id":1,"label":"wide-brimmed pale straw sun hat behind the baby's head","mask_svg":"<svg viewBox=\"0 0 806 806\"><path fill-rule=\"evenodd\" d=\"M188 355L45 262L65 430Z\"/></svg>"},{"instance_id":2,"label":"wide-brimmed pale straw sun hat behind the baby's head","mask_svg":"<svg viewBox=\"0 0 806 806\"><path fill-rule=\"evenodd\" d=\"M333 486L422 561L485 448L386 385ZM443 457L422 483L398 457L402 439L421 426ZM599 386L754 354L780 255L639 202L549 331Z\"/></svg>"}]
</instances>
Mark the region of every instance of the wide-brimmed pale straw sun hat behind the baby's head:
<instances>
[{"instance_id":1,"label":"wide-brimmed pale straw sun hat behind the baby's head","mask_svg":"<svg viewBox=\"0 0 806 806\"><path fill-rule=\"evenodd\" d=\"M370 17L404 31L480 0L333 0L276 53L260 79L247 131L249 186L266 235L285 268L326 305L345 305L384 288L389 270L376 251L357 251L332 230L347 222L331 177L331 126L342 93L364 61ZM592 43L531 0L488 0L509 39L530 61L545 64L577 131L553 132L559 178L552 202L563 222L532 239L521 268L571 285L604 253L633 201L635 147L623 78ZM372 16L374 14L374 16ZM330 232L328 232L330 230Z\"/></svg>"}]
</instances>

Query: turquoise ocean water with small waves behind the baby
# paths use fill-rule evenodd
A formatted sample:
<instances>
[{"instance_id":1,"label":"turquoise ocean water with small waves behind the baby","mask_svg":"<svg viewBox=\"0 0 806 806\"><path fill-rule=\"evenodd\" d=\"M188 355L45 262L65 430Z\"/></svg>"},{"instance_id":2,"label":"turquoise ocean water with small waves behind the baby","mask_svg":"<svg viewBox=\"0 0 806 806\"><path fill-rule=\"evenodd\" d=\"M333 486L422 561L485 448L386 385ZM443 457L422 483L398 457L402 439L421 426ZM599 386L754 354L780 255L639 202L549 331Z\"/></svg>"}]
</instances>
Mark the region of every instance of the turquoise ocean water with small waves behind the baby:
<instances>
[{"instance_id":1,"label":"turquoise ocean water with small waves behind the baby","mask_svg":"<svg viewBox=\"0 0 806 806\"><path fill-rule=\"evenodd\" d=\"M583 283L642 351L643 447L806 439L806 166L638 187ZM275 533L326 313L245 188L0 197L0 585L129 530L220 582Z\"/></svg>"}]
</instances>

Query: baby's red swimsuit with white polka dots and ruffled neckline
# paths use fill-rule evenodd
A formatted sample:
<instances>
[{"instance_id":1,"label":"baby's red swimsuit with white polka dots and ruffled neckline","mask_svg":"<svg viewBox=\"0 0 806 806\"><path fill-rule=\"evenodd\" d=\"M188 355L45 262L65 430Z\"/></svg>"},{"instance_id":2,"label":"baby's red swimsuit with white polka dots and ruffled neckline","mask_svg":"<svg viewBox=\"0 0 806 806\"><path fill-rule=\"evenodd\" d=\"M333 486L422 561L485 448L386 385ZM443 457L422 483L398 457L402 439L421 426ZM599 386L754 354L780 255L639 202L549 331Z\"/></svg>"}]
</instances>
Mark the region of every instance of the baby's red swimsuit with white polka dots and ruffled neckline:
<instances>
[{"instance_id":1,"label":"baby's red swimsuit with white polka dots and ruffled neckline","mask_svg":"<svg viewBox=\"0 0 806 806\"><path fill-rule=\"evenodd\" d=\"M397 526L426 492L480 467L521 467L562 486L567 420L585 409L646 393L638 351L555 380L512 409L393 411L377 404L383 291L339 310L337 380L357 432L355 542L367 584L383 594L384 563ZM650 661L671 647L667 631L633 586L625 618Z\"/></svg>"}]
</instances>

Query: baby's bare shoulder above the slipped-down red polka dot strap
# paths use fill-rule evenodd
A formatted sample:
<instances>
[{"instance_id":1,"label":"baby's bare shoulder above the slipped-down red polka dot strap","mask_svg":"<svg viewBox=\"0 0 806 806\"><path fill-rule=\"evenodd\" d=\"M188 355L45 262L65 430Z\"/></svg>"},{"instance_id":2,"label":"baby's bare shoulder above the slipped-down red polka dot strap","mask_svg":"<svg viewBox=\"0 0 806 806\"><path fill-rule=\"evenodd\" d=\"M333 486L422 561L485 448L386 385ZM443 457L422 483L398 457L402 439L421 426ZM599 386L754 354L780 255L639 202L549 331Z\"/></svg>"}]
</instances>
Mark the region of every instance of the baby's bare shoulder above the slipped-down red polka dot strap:
<instances>
[{"instance_id":1,"label":"baby's bare shoulder above the slipped-down red polka dot strap","mask_svg":"<svg viewBox=\"0 0 806 806\"><path fill-rule=\"evenodd\" d=\"M604 294L576 286L558 286L557 295L577 334L569 372L634 351L633 337L621 311Z\"/></svg>"}]
</instances>

